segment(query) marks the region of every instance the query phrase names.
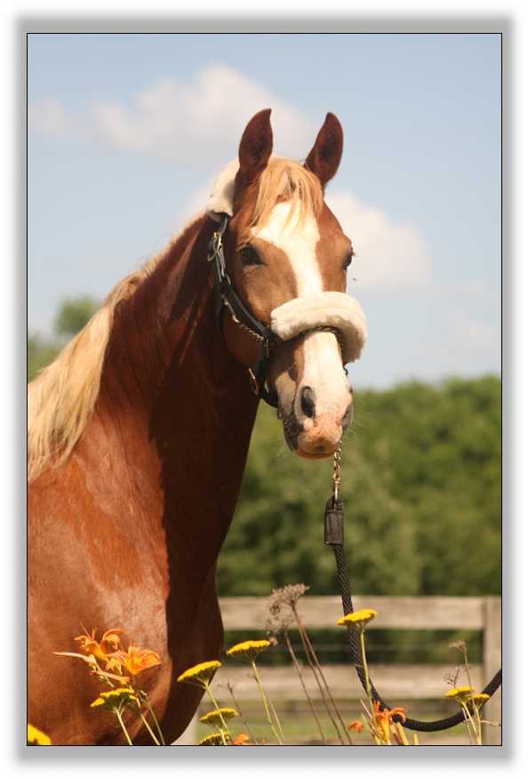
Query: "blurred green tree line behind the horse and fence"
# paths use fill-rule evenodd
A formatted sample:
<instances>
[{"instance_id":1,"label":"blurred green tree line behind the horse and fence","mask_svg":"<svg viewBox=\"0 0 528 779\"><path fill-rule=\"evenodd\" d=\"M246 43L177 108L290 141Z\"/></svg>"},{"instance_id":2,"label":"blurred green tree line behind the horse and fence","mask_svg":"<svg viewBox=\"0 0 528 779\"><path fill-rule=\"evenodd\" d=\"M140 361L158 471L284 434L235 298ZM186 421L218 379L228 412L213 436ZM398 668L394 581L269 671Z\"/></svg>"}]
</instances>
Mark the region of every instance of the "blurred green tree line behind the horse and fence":
<instances>
[{"instance_id":1,"label":"blurred green tree line behind the horse and fence","mask_svg":"<svg viewBox=\"0 0 528 779\"><path fill-rule=\"evenodd\" d=\"M64 301L54 333L28 336L28 381L98 308ZM500 378L408 381L355 393L343 441L346 545L355 593L500 593ZM335 594L323 544L332 462L290 453L276 414L261 404L228 539L220 595L268 595L309 584Z\"/></svg>"}]
</instances>

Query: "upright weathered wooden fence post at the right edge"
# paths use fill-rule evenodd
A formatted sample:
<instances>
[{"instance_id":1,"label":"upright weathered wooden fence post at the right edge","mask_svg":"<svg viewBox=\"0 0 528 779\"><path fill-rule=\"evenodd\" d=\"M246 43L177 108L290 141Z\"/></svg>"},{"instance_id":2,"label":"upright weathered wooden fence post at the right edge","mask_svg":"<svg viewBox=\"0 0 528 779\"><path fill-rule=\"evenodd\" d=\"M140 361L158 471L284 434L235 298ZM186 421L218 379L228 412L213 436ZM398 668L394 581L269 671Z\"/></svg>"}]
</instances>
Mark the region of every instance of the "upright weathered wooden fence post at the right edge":
<instances>
[{"instance_id":1,"label":"upright weathered wooden fence post at the right edge","mask_svg":"<svg viewBox=\"0 0 528 779\"><path fill-rule=\"evenodd\" d=\"M484 679L487 684L490 679L499 671L502 665L501 651L501 601L500 598L493 596L484 598ZM484 719L491 719L494 722L500 722L502 703L502 687L499 687L495 695L492 696L489 703L483 711ZM501 727L492 725L484 726L484 743L494 744L502 743Z\"/></svg>"}]
</instances>

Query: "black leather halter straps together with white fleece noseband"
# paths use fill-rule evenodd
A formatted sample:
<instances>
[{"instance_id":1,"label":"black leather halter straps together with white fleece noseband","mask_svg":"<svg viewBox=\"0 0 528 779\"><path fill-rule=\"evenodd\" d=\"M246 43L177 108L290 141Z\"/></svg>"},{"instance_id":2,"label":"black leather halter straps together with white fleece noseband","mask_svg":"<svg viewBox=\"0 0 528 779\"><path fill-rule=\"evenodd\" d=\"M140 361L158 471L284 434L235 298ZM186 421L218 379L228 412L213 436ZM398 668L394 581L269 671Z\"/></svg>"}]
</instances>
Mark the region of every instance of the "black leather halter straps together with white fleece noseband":
<instances>
[{"instance_id":1,"label":"black leather halter straps together with white fleece noseband","mask_svg":"<svg viewBox=\"0 0 528 779\"><path fill-rule=\"evenodd\" d=\"M343 365L354 362L361 355L367 337L364 312L350 295L324 292L304 295L283 303L271 312L270 325L263 325L247 308L236 292L226 269L223 237L228 229L229 215L220 215L220 225L212 234L207 253L212 262L217 315L222 326L224 306L233 321L253 338L260 341L260 359L251 369L252 388L255 394L268 403L278 406L276 392L266 384L271 349L276 342L290 341L295 336L313 330L332 330L340 342Z\"/></svg>"}]
</instances>

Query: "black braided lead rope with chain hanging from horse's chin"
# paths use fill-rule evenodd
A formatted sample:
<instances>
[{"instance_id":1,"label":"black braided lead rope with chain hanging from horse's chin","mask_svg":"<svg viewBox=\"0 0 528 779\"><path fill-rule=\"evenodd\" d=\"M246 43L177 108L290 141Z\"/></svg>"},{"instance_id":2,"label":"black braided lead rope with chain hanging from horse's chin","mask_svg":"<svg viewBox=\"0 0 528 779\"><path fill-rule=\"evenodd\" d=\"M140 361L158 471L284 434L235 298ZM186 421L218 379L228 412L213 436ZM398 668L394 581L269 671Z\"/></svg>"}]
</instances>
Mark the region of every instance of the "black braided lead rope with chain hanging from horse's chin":
<instances>
[{"instance_id":1,"label":"black braided lead rope with chain hanging from horse's chin","mask_svg":"<svg viewBox=\"0 0 528 779\"><path fill-rule=\"evenodd\" d=\"M347 561L345 558L344 550L344 538L343 529L345 524L345 504L340 497L340 484L341 484L341 445L338 446L333 456L333 490L332 497L326 502L326 510L324 511L324 543L333 547L333 553L335 555L335 562L337 566L337 573L340 580L341 588L341 600L343 604L343 614L350 614L354 611L352 605L352 596L350 594L350 582L348 580ZM361 681L365 693L367 692L366 678L364 675L363 663L361 661L361 652L357 642L356 630L352 625L347 625L348 632L348 648L352 655L352 662L356 666L357 676ZM483 693L490 695L495 693L502 682L502 670L497 671L492 681L484 687ZM388 703L386 703L376 687L370 679L372 701L378 701L380 703L380 709L390 709ZM368 693L367 693L368 695ZM485 703L484 703L485 705ZM408 730L420 730L420 731L435 731L435 730L447 730L450 727L459 725L464 721L464 712L459 711L458 714L453 714L452 717L446 717L445 719L433 719L429 722L421 719L412 719L407 717L403 719L400 715L394 716L394 721L399 722Z\"/></svg>"}]
</instances>

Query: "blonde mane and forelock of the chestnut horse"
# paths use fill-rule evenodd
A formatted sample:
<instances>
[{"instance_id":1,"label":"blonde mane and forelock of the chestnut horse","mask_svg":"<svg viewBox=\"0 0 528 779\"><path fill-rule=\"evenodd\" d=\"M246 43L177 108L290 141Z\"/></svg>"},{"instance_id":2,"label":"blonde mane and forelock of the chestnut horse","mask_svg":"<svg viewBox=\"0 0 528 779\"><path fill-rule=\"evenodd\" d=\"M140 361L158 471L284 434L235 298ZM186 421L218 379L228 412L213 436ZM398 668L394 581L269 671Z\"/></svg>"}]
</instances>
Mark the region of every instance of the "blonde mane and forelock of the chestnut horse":
<instances>
[{"instance_id":1,"label":"blonde mane and forelock of the chestnut horse","mask_svg":"<svg viewBox=\"0 0 528 779\"><path fill-rule=\"evenodd\" d=\"M292 213L296 213L302 222L308 214L319 213L323 205L321 183L300 163L271 157L260 176L251 228L259 229L265 224L279 200L299 204ZM171 245L120 281L84 329L28 385L29 481L35 479L50 460L55 466L68 460L99 397L100 377L116 306L134 293L170 248Z\"/></svg>"}]
</instances>

